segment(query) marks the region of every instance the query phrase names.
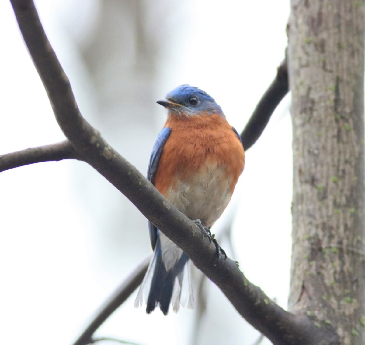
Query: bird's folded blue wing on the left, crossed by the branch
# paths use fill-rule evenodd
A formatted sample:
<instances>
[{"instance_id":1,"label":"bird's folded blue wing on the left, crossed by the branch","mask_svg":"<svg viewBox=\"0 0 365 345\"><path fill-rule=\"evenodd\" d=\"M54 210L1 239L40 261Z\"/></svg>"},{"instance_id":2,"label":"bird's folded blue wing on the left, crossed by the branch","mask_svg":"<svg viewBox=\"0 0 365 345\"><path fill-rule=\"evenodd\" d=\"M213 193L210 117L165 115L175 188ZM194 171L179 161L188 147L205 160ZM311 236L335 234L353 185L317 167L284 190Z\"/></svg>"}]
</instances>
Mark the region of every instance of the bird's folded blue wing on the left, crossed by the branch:
<instances>
[{"instance_id":1,"label":"bird's folded blue wing on the left, crossed by the branch","mask_svg":"<svg viewBox=\"0 0 365 345\"><path fill-rule=\"evenodd\" d=\"M156 171L158 168L158 163L160 162L162 150L164 149L165 143L167 139L169 139L171 130L169 127L162 128L161 132L158 134L157 139L153 145L151 157L150 157L150 164L147 170L147 179L151 181L154 185ZM150 239L152 248L155 248L156 241L157 241L157 228L149 222L148 224L150 230Z\"/></svg>"}]
</instances>

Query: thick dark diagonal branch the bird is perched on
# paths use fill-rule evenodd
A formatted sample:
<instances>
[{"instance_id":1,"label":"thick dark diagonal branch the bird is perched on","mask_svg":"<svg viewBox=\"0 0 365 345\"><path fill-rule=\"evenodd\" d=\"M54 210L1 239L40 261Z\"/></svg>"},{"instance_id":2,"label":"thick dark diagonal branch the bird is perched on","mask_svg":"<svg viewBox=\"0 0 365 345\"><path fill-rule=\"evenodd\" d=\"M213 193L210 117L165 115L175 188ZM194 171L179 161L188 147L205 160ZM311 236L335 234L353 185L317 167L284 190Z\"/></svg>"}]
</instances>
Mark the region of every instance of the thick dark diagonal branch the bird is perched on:
<instances>
[{"instance_id":1,"label":"thick dark diagonal branch the bird is perched on","mask_svg":"<svg viewBox=\"0 0 365 345\"><path fill-rule=\"evenodd\" d=\"M145 217L186 252L193 263L212 280L236 310L273 344L319 344L327 337L306 315L293 315L249 282L236 262L222 258L215 264L215 245L80 114L68 78L48 42L31 0L11 0L20 31L41 76L66 137L82 159L134 203Z\"/></svg>"}]
</instances>

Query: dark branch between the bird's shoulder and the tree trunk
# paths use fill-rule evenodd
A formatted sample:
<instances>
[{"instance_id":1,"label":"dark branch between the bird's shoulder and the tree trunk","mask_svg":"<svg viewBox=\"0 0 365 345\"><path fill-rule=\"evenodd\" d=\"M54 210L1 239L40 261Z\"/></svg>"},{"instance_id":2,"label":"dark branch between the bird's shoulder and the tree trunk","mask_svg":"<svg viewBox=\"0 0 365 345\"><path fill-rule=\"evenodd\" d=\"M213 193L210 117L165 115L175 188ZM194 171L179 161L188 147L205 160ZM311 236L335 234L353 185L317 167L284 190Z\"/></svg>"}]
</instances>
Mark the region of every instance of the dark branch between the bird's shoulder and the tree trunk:
<instances>
[{"instance_id":1,"label":"dark branch between the bird's shoulder and the tree trunk","mask_svg":"<svg viewBox=\"0 0 365 345\"><path fill-rule=\"evenodd\" d=\"M281 100L289 92L287 59L280 64L273 82L258 102L249 122L241 133L243 147L247 151L260 137L270 117Z\"/></svg>"}]
</instances>

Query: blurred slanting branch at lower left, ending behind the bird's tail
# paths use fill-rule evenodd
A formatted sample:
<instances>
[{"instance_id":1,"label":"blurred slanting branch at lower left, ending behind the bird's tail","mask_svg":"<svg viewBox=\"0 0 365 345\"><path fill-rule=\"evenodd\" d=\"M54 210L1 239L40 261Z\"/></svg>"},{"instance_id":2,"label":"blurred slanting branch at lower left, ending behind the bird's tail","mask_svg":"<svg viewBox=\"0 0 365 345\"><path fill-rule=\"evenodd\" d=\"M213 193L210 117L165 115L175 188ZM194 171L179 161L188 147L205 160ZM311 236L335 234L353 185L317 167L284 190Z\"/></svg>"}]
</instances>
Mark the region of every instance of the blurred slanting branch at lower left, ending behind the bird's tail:
<instances>
[{"instance_id":1,"label":"blurred slanting branch at lower left, ending behind the bird's tail","mask_svg":"<svg viewBox=\"0 0 365 345\"><path fill-rule=\"evenodd\" d=\"M89 326L84 330L73 345L86 345L92 343L92 335L103 322L133 293L141 284L147 271L151 257L143 260L132 273L124 280L118 289L110 296L109 300L96 313Z\"/></svg>"}]
</instances>

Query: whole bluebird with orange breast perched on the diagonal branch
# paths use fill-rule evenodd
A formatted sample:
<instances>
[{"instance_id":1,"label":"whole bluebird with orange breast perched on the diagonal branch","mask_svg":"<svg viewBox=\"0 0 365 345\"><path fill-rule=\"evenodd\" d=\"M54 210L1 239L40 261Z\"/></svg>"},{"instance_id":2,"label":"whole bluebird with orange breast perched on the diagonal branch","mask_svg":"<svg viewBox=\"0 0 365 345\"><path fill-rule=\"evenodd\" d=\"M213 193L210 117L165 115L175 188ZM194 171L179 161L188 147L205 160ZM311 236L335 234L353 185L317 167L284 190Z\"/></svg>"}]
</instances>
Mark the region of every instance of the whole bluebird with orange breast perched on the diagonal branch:
<instances>
[{"instance_id":1,"label":"whole bluebird with orange breast perched on the diagonal branch","mask_svg":"<svg viewBox=\"0 0 365 345\"><path fill-rule=\"evenodd\" d=\"M228 205L245 166L245 151L238 132L220 106L205 91L180 85L157 100L167 120L154 143L147 177L178 210L194 221L220 249L210 228ZM154 250L135 300L146 301L150 314L157 306L164 315L172 305L193 308L189 258L149 222Z\"/></svg>"}]
</instances>

